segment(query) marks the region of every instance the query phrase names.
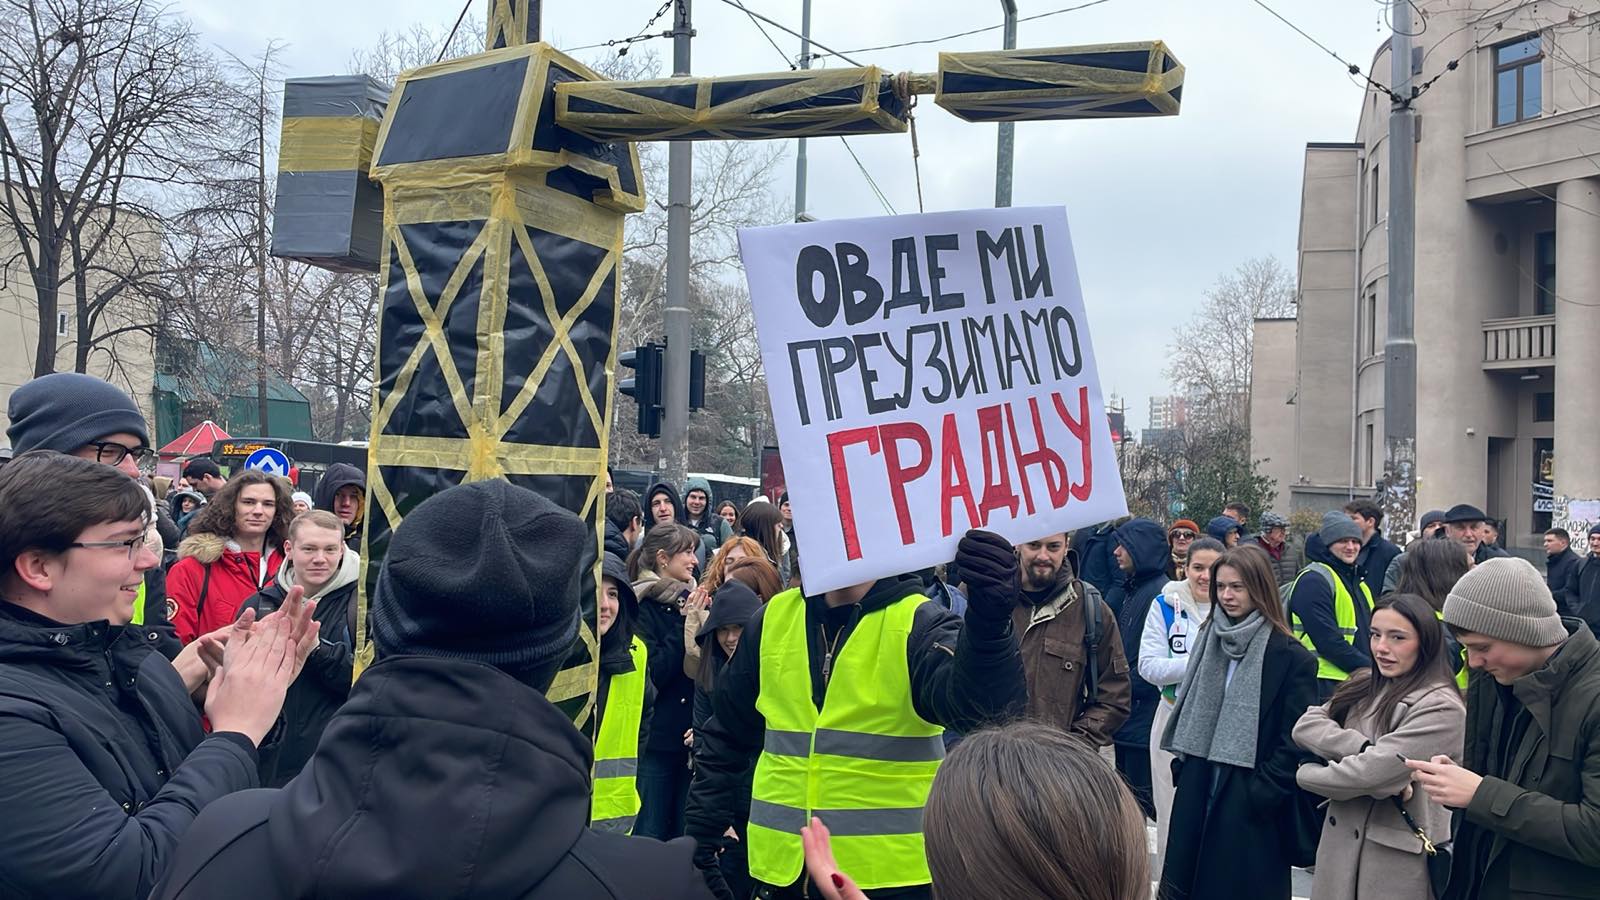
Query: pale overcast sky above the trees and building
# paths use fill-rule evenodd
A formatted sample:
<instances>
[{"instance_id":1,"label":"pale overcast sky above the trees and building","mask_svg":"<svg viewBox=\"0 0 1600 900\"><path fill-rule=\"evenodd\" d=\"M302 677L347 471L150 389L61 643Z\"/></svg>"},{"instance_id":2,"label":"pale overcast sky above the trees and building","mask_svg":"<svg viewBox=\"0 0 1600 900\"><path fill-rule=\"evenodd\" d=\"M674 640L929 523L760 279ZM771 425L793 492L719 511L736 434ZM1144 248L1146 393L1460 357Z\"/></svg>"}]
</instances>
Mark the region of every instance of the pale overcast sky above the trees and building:
<instances>
[{"instance_id":1,"label":"pale overcast sky above the trees and building","mask_svg":"<svg viewBox=\"0 0 1600 900\"><path fill-rule=\"evenodd\" d=\"M800 0L744 2L800 26ZM1019 0L1018 6L1029 16L1078 2ZM1374 0L1269 5L1363 69L1387 37ZM544 6L546 38L571 48L638 32L661 0L546 0ZM179 0L176 8L238 56L259 53L270 40L286 43L286 75L344 72L350 51L371 45L379 30L416 22L448 27L461 11L458 0ZM486 0L472 0L467 16L486 16ZM814 0L811 34L850 51L997 22L998 2ZM694 27L696 74L787 67L726 0L698 0ZM798 40L768 30L789 56L798 54ZM1218 274L1261 255L1293 267L1304 146L1352 139L1362 102L1362 90L1338 62L1253 0L1109 0L1018 29L1024 48L1157 38L1187 67L1182 114L1019 123L1013 197L1019 207L1066 207L1104 389L1126 399L1130 424L1141 429L1149 397L1168 392L1163 370L1173 327L1189 319ZM670 59L670 42L650 45ZM856 58L890 70L931 72L938 50L990 46L1000 46L998 30ZM598 53L606 51L578 56ZM917 120L926 208L992 205L995 128L968 125L931 102ZM872 136L851 144L896 211L917 211L910 139ZM883 215L838 141L811 141L808 152L813 215ZM774 187L792 194L792 152ZM666 186L648 189L664 194Z\"/></svg>"}]
</instances>

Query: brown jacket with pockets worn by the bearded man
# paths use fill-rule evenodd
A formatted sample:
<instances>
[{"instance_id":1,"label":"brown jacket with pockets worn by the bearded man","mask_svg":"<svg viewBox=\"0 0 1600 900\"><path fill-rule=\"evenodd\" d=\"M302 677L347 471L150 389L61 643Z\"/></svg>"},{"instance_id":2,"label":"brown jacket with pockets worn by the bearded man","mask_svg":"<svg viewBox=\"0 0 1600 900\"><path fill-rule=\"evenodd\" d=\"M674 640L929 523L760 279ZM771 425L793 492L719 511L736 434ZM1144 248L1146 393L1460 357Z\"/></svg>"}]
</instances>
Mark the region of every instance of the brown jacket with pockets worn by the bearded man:
<instances>
[{"instance_id":1,"label":"brown jacket with pockets worn by the bearded man","mask_svg":"<svg viewBox=\"0 0 1600 900\"><path fill-rule=\"evenodd\" d=\"M1085 602L1099 605L1099 681L1094 703L1085 703L1088 647L1083 644ZM1022 644L1022 671L1027 674L1027 716L1082 737L1093 746L1109 746L1110 738L1133 708L1128 658L1122 652L1117 615L1093 585L1061 567L1056 593L1040 607L1018 605L1011 626Z\"/></svg>"}]
</instances>

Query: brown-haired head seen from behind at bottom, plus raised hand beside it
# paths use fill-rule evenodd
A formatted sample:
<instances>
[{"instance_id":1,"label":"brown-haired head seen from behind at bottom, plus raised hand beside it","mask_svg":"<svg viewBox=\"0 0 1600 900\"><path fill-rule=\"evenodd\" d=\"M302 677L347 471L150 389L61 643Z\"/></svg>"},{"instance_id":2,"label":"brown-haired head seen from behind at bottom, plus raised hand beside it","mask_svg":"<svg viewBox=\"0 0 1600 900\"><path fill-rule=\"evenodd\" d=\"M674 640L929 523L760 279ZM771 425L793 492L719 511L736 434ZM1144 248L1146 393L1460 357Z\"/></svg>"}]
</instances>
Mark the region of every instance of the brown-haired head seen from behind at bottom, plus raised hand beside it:
<instances>
[{"instance_id":1,"label":"brown-haired head seen from behind at bottom, plus raised hand beside it","mask_svg":"<svg viewBox=\"0 0 1600 900\"><path fill-rule=\"evenodd\" d=\"M802 830L827 900L864 897L827 823ZM1093 748L1042 722L962 738L928 793L923 839L941 900L1147 900L1149 847L1133 791Z\"/></svg>"}]
</instances>

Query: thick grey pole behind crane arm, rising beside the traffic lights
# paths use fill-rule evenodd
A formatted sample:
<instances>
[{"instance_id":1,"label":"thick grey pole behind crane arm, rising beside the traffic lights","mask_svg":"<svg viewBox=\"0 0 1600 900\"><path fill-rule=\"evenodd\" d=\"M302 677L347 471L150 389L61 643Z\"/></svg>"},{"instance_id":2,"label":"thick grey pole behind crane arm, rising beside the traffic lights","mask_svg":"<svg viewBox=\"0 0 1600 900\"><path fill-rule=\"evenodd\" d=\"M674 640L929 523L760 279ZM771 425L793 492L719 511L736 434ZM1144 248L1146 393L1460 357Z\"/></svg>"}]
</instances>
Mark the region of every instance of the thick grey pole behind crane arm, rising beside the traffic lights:
<instances>
[{"instance_id":1,"label":"thick grey pole behind crane arm, rising beside the traffic lights","mask_svg":"<svg viewBox=\"0 0 1600 900\"><path fill-rule=\"evenodd\" d=\"M675 0L672 13L672 74L690 74L691 0ZM662 323L667 351L662 364L661 458L656 469L670 484L688 472L690 432L690 194L694 184L694 144L672 141L667 151L667 307Z\"/></svg>"}]
</instances>

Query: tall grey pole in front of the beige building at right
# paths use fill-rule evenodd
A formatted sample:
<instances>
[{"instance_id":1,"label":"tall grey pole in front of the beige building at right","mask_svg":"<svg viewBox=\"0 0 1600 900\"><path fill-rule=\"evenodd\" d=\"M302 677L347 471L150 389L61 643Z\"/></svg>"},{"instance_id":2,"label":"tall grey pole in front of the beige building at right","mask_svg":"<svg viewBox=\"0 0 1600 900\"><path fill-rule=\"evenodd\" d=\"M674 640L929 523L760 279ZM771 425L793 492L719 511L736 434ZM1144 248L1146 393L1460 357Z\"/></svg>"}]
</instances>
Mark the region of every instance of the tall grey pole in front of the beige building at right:
<instances>
[{"instance_id":1,"label":"tall grey pole in front of the beige building at right","mask_svg":"<svg viewBox=\"0 0 1600 900\"><path fill-rule=\"evenodd\" d=\"M1389 335L1384 338L1384 519L1390 532L1416 524L1416 110L1411 0L1390 3Z\"/></svg>"}]
</instances>

